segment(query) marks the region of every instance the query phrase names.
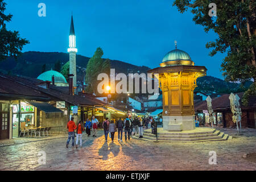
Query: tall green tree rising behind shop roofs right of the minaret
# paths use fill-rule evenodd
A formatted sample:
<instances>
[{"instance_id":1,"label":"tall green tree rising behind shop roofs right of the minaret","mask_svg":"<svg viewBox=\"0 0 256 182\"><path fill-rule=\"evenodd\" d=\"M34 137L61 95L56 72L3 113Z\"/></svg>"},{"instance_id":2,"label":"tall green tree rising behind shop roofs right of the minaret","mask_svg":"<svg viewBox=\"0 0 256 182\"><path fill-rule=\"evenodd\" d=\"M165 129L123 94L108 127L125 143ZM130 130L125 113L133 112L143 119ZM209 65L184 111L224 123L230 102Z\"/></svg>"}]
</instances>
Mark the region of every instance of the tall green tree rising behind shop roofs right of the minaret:
<instances>
[{"instance_id":1,"label":"tall green tree rising behind shop roofs right of the minaret","mask_svg":"<svg viewBox=\"0 0 256 182\"><path fill-rule=\"evenodd\" d=\"M110 61L109 59L104 61L101 58L103 54L102 49L98 47L94 52L93 57L90 58L86 65L85 81L88 84L86 87L86 92L88 93L98 93L97 86L99 81L97 80L97 77L100 73L110 74Z\"/></svg>"}]
</instances>

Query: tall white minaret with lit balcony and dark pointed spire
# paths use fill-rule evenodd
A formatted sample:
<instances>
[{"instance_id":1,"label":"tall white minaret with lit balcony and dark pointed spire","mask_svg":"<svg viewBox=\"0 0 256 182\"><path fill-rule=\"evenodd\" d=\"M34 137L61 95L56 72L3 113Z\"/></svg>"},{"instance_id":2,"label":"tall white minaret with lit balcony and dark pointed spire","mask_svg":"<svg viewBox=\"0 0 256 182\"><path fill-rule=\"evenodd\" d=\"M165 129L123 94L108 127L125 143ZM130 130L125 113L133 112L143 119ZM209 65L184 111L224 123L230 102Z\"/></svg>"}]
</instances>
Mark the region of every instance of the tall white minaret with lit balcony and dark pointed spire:
<instances>
[{"instance_id":1,"label":"tall white minaret with lit balcony and dark pointed spire","mask_svg":"<svg viewBox=\"0 0 256 182\"><path fill-rule=\"evenodd\" d=\"M76 35L73 23L73 15L71 16L71 26L69 32L69 74L73 74L73 86L76 88Z\"/></svg>"}]
</instances>

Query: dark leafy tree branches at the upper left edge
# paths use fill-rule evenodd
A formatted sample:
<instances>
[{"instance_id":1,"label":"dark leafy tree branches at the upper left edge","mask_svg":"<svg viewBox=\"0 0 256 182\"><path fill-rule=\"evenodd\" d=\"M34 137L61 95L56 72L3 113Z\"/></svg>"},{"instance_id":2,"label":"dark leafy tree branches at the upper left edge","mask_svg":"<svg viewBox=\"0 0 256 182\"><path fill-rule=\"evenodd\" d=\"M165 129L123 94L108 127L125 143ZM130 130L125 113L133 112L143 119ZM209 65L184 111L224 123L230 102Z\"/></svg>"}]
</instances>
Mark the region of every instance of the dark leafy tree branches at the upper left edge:
<instances>
[{"instance_id":1,"label":"dark leafy tree branches at the upper left edge","mask_svg":"<svg viewBox=\"0 0 256 182\"><path fill-rule=\"evenodd\" d=\"M9 31L6 29L6 22L10 22L13 15L5 15L6 3L0 0L0 61L8 56L14 56L16 59L22 52L24 45L28 40L22 39L18 31Z\"/></svg>"}]
</instances>

